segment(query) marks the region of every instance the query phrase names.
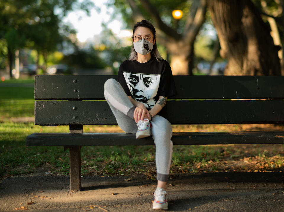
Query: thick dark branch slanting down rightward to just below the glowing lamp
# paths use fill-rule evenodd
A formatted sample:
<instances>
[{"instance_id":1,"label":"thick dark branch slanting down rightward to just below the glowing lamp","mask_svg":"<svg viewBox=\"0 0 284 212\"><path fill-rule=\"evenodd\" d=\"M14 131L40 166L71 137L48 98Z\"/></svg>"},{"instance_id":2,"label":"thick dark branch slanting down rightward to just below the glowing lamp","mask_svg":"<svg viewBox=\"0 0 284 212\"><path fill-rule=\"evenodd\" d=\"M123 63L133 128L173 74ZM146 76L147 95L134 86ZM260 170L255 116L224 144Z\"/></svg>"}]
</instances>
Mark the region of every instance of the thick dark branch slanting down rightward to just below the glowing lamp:
<instances>
[{"instance_id":1,"label":"thick dark branch slanting down rightward to just below the glowing lamp","mask_svg":"<svg viewBox=\"0 0 284 212\"><path fill-rule=\"evenodd\" d=\"M178 34L175 30L171 27L167 26L159 16L159 12L156 10L154 5L152 5L149 0L141 0L142 6L146 9L146 11L152 16L156 24L158 25L159 29L162 30L166 35L174 38L175 40L179 40L181 35Z\"/></svg>"}]
</instances>

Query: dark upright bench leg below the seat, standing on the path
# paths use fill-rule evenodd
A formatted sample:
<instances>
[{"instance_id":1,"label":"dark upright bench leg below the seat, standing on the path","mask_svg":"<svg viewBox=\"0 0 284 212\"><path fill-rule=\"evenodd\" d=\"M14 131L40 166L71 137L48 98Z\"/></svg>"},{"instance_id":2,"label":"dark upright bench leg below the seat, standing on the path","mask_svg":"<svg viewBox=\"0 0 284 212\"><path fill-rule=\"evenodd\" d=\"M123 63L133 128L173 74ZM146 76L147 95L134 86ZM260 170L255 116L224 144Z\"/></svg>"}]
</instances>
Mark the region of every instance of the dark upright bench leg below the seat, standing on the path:
<instances>
[{"instance_id":1,"label":"dark upright bench leg below the seat, standing on the path","mask_svg":"<svg viewBox=\"0 0 284 212\"><path fill-rule=\"evenodd\" d=\"M81 147L69 147L70 153L70 190L80 191L81 184Z\"/></svg>"}]
</instances>

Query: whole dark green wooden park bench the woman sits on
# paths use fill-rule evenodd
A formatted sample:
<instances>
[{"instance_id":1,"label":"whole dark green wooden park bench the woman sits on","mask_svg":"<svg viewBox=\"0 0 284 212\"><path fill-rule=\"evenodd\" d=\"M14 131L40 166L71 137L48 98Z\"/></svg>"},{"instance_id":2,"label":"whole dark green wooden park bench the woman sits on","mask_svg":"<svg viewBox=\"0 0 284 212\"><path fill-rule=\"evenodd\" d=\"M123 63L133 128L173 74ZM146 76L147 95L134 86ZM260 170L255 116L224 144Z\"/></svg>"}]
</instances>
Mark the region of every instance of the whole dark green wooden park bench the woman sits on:
<instances>
[{"instance_id":1,"label":"whole dark green wooden park bench the woman sits on","mask_svg":"<svg viewBox=\"0 0 284 212\"><path fill-rule=\"evenodd\" d=\"M70 190L81 190L82 146L154 145L151 137L83 132L83 125L117 124L104 101L104 82L109 78L117 76L35 76L35 124L69 125L70 133L33 133L27 146L69 148ZM174 76L174 80L178 95L167 101L172 124L284 123L282 76ZM283 144L284 132L174 132L172 141Z\"/></svg>"}]
</instances>

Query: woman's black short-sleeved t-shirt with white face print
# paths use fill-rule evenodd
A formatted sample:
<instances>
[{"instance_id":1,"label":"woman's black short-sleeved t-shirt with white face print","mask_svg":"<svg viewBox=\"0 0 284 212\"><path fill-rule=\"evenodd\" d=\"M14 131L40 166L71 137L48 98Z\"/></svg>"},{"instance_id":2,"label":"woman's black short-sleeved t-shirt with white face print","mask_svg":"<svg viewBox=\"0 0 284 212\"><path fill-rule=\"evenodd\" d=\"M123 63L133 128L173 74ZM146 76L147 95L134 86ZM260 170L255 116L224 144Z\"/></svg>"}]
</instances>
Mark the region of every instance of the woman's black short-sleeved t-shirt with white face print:
<instances>
[{"instance_id":1,"label":"woman's black short-sleeved t-shirt with white face print","mask_svg":"<svg viewBox=\"0 0 284 212\"><path fill-rule=\"evenodd\" d=\"M152 57L146 63L125 60L119 67L118 82L125 93L142 102L150 110L159 96L175 96L177 91L170 64L166 60L158 62ZM167 118L166 106L158 115Z\"/></svg>"}]
</instances>

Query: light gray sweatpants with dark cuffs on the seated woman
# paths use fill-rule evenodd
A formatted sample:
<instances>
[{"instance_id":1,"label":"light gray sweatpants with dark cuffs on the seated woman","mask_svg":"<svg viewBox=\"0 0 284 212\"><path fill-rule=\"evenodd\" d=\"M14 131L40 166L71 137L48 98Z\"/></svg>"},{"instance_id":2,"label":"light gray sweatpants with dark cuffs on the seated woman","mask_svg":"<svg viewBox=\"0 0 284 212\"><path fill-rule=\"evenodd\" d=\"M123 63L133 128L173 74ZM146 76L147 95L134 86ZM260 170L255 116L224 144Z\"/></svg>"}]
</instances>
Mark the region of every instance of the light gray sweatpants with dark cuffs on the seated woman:
<instances>
[{"instance_id":1,"label":"light gray sweatpants with dark cuffs on the seated woman","mask_svg":"<svg viewBox=\"0 0 284 212\"><path fill-rule=\"evenodd\" d=\"M104 96L120 128L128 133L136 133L137 126L133 119L135 107L120 83L114 79L106 80ZM156 145L157 179L167 182L172 160L172 125L159 115L153 117L151 124L151 133Z\"/></svg>"}]
</instances>

